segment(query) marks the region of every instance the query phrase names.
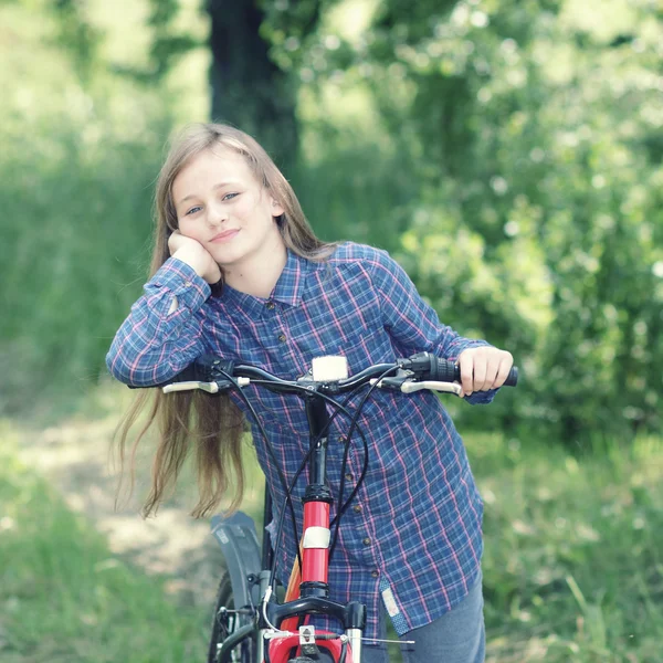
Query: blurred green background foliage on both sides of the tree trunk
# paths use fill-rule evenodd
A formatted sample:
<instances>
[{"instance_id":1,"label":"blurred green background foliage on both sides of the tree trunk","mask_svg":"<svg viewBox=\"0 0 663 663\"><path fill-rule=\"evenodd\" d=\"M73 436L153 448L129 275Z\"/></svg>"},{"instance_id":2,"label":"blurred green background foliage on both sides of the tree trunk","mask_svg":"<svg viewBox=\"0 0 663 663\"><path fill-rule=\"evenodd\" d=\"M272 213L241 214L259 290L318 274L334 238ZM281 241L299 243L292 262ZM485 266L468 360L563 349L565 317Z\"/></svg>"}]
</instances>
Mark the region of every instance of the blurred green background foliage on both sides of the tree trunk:
<instances>
[{"instance_id":1,"label":"blurred green background foliage on both sides of the tree trunk","mask_svg":"<svg viewBox=\"0 0 663 663\"><path fill-rule=\"evenodd\" d=\"M138 4L115 54L95 0L1 6L4 406L23 398L23 367L95 379L143 281L161 145L176 117L207 113L206 93L176 109L196 98L182 63L202 6ZM656 6L261 7L299 86L303 155L286 175L315 229L391 250L446 324L522 366L482 424L575 445L661 430Z\"/></svg>"}]
</instances>

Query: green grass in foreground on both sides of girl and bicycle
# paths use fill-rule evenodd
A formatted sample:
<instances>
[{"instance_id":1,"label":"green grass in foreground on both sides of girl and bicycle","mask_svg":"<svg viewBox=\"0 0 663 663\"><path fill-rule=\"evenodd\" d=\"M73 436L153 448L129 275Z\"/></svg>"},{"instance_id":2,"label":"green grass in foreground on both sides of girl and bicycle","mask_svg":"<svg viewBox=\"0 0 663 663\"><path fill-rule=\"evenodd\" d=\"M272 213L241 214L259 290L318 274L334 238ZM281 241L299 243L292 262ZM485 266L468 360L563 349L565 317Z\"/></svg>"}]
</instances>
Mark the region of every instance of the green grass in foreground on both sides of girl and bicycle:
<instances>
[{"instance_id":1,"label":"green grass in foreground on both sides of girl and bicycle","mask_svg":"<svg viewBox=\"0 0 663 663\"><path fill-rule=\"evenodd\" d=\"M201 661L209 610L113 555L94 523L0 457L0 660ZM657 440L582 459L472 435L486 503L487 661L663 661L663 455Z\"/></svg>"}]
</instances>

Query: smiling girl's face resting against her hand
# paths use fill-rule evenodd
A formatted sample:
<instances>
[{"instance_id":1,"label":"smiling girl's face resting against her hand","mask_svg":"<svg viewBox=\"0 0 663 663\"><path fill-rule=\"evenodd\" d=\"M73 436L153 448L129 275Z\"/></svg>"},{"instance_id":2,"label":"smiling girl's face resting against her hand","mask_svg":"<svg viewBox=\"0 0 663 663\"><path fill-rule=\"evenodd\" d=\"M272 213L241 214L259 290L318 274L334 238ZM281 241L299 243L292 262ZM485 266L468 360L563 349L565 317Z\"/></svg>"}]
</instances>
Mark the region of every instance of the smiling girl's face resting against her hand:
<instances>
[{"instance_id":1,"label":"smiling girl's face resting against her hand","mask_svg":"<svg viewBox=\"0 0 663 663\"><path fill-rule=\"evenodd\" d=\"M245 159L222 146L194 157L175 178L179 231L223 267L274 260L283 246L275 217L283 208L256 181Z\"/></svg>"}]
</instances>

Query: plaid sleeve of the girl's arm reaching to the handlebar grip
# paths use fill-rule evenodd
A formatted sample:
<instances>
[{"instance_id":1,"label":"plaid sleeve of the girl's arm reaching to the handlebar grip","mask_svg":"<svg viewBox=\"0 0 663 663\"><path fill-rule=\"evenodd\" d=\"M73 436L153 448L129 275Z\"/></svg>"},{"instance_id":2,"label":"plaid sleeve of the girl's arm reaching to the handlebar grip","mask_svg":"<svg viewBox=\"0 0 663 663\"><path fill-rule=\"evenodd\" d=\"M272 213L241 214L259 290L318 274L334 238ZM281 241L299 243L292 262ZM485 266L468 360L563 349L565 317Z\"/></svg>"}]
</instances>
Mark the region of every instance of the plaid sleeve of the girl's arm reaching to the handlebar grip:
<instances>
[{"instance_id":1,"label":"plaid sleeve of the girl's arm reaching to the handlebar grip","mask_svg":"<svg viewBox=\"0 0 663 663\"><path fill-rule=\"evenodd\" d=\"M432 352L455 361L467 348L490 347L485 340L465 338L443 325L406 271L386 251L376 250L370 265L385 328L408 355ZM496 391L475 391L465 400L472 404L490 403Z\"/></svg>"}]
</instances>

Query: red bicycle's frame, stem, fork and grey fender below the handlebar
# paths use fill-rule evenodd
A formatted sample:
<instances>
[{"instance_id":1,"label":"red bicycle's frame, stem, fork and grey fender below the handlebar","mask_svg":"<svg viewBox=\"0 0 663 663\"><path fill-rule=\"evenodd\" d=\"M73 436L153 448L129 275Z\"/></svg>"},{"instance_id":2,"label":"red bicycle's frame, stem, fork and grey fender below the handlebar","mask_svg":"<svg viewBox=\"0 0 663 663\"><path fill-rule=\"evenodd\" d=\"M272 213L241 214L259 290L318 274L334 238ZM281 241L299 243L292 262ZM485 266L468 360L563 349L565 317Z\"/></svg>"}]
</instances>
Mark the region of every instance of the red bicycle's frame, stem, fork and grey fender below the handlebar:
<instances>
[{"instance_id":1,"label":"red bicycle's frame, stem, fork and grey fender below the handlebar","mask_svg":"<svg viewBox=\"0 0 663 663\"><path fill-rule=\"evenodd\" d=\"M366 607L351 601L347 606L330 601L328 586L329 564L329 507L333 497L326 483L328 413L325 401L315 392L305 397L309 425L312 454L308 462L309 478L304 494L304 527L301 545L301 575L293 569L285 602L270 602L266 614L260 614L257 627L245 624L222 644L220 661L231 660L232 650L243 640L255 634L257 628L257 660L262 663L287 663L296 649L296 655L317 653L315 648L325 649L335 662L361 662L361 638L366 628ZM283 506L285 508L285 505ZM265 493L265 522L271 518L269 492ZM223 549L231 577L235 607L259 606L267 590L271 562L269 535L263 538L262 555L259 556L257 535L253 520L238 512L230 518L212 518L212 532ZM262 564L259 567L260 561ZM326 614L344 625L345 636L332 638L329 632L309 627L298 629L299 619L309 614ZM290 631L287 636L273 638L264 651L264 636L271 627ZM314 635L315 633L315 635ZM319 639L322 636L322 639ZM348 646L349 644L349 646Z\"/></svg>"}]
</instances>

